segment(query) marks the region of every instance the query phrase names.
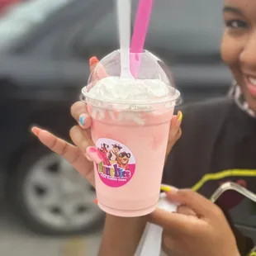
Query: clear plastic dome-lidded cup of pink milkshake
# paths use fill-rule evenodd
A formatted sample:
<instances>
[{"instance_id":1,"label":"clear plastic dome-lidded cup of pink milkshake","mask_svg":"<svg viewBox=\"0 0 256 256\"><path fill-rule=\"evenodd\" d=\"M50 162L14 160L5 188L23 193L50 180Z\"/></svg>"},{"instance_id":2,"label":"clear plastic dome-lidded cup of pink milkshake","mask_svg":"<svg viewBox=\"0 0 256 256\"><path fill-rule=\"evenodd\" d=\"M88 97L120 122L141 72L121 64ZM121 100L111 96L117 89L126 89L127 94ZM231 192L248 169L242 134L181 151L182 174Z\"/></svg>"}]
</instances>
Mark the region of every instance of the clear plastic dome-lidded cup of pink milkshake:
<instances>
[{"instance_id":1,"label":"clear plastic dome-lidded cup of pink milkshake","mask_svg":"<svg viewBox=\"0 0 256 256\"><path fill-rule=\"evenodd\" d=\"M140 59L138 79L161 80L168 85L168 95L154 101L92 97L90 90L102 79L99 69L120 77L119 50L97 64L82 90L92 116L92 140L104 159L94 164L98 206L115 216L144 216L156 208L170 121L180 96L171 73L154 55L145 51L131 54L130 59Z\"/></svg>"}]
</instances>

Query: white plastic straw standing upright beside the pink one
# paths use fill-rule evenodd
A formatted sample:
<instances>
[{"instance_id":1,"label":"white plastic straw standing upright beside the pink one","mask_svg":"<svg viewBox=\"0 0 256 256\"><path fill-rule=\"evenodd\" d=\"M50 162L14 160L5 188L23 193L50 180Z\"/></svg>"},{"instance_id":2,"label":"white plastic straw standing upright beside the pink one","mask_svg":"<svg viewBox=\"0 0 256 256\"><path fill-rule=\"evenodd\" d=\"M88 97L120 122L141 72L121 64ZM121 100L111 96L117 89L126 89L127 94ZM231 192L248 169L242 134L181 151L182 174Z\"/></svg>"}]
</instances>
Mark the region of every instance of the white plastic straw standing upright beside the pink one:
<instances>
[{"instance_id":1,"label":"white plastic straw standing upright beside the pink one","mask_svg":"<svg viewBox=\"0 0 256 256\"><path fill-rule=\"evenodd\" d=\"M130 5L130 0L117 0L121 49L121 78L132 78L130 73Z\"/></svg>"}]
</instances>

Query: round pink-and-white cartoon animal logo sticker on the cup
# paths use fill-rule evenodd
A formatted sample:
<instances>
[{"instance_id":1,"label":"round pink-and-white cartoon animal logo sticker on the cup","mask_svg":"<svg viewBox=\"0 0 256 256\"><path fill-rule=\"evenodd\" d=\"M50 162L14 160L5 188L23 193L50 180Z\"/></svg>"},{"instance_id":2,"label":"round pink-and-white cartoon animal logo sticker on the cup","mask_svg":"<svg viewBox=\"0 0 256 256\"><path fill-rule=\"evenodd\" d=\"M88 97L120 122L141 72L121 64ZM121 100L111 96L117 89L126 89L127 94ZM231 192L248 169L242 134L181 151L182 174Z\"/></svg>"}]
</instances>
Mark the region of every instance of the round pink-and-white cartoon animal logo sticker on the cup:
<instances>
[{"instance_id":1,"label":"round pink-and-white cartoon animal logo sticker on the cup","mask_svg":"<svg viewBox=\"0 0 256 256\"><path fill-rule=\"evenodd\" d=\"M120 142L101 138L96 142L102 154L102 163L97 164L97 173L109 187L121 187L130 181L135 173L135 157Z\"/></svg>"}]
</instances>

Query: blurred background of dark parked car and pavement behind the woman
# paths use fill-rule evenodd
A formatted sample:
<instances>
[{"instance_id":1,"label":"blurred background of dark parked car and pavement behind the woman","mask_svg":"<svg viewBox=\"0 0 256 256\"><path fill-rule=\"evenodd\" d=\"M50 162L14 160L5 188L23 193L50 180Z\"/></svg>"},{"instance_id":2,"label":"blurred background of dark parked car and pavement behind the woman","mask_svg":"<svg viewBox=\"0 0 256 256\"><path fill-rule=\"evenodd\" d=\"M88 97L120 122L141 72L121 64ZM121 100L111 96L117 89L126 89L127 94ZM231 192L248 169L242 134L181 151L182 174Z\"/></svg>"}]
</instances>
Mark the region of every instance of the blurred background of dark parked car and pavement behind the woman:
<instances>
[{"instance_id":1,"label":"blurred background of dark parked car and pavement behind the woman","mask_svg":"<svg viewBox=\"0 0 256 256\"><path fill-rule=\"evenodd\" d=\"M219 53L222 4L155 1L145 48L173 71L183 104L231 86ZM88 59L116 50L117 36L114 0L0 0L1 255L97 255L103 215L94 190L29 129L69 140ZM256 237L254 221L240 220Z\"/></svg>"}]
</instances>

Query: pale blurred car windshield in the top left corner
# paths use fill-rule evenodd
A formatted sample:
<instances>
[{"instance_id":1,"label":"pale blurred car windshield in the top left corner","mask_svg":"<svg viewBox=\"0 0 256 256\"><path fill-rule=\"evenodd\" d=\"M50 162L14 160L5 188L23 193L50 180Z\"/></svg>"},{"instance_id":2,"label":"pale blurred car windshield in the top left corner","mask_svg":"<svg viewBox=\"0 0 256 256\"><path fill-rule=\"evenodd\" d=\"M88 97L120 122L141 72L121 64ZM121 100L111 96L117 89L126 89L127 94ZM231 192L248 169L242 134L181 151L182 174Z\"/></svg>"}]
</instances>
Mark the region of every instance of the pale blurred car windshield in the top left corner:
<instances>
[{"instance_id":1,"label":"pale blurred car windshield in the top left corner","mask_svg":"<svg viewBox=\"0 0 256 256\"><path fill-rule=\"evenodd\" d=\"M43 23L47 17L73 0L32 0L6 7L0 15L0 50Z\"/></svg>"}]
</instances>

